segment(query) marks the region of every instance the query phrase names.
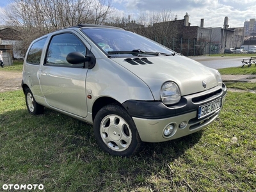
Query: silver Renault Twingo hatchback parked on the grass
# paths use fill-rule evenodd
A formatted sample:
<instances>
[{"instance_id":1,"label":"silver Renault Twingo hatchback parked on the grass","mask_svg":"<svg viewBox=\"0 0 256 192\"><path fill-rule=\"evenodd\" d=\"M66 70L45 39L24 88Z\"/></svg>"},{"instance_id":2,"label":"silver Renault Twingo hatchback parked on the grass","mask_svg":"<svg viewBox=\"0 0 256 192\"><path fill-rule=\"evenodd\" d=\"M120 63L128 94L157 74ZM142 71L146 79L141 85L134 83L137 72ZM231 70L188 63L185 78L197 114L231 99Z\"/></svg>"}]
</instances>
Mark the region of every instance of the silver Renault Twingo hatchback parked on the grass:
<instances>
[{"instance_id":1,"label":"silver Renault Twingo hatchback parked on the grass","mask_svg":"<svg viewBox=\"0 0 256 192\"><path fill-rule=\"evenodd\" d=\"M46 107L88 122L115 156L200 131L227 94L218 70L111 26L81 24L34 40L22 76L29 113Z\"/></svg>"}]
</instances>

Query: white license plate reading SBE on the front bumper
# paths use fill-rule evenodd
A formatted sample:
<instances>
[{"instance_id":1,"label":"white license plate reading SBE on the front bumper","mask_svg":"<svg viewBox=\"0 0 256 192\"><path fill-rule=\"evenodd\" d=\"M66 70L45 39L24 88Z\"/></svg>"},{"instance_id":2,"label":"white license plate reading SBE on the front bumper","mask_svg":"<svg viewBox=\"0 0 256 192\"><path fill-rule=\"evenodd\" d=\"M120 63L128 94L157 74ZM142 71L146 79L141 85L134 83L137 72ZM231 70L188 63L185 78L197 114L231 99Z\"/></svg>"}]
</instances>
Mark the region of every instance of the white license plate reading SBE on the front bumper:
<instances>
[{"instance_id":1,"label":"white license plate reading SBE on the front bumper","mask_svg":"<svg viewBox=\"0 0 256 192\"><path fill-rule=\"evenodd\" d=\"M221 108L221 99L214 100L198 107L198 118L203 118Z\"/></svg>"}]
</instances>

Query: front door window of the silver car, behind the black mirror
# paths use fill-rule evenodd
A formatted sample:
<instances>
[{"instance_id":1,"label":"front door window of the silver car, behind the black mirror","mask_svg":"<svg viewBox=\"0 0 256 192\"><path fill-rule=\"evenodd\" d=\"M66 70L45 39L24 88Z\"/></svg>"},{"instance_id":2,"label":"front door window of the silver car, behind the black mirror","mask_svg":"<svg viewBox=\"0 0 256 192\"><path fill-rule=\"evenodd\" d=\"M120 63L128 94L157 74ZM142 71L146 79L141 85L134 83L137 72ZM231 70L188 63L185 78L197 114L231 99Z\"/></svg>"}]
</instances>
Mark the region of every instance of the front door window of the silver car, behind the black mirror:
<instances>
[{"instance_id":1,"label":"front door window of the silver car, behind the black mirror","mask_svg":"<svg viewBox=\"0 0 256 192\"><path fill-rule=\"evenodd\" d=\"M52 36L47 50L46 64L56 66L73 66L66 60L70 52L81 52L86 55L86 47L83 42L72 33L63 33ZM76 65L83 66L83 63Z\"/></svg>"}]
</instances>

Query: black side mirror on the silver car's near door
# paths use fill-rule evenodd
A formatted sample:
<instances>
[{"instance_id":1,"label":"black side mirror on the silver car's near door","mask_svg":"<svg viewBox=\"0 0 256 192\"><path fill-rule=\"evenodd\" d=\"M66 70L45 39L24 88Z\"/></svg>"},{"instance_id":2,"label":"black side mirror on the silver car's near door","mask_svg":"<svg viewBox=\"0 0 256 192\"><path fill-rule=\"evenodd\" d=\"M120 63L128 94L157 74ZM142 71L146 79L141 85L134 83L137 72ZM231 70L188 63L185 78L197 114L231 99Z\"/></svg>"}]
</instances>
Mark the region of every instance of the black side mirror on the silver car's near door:
<instances>
[{"instance_id":1,"label":"black side mirror on the silver car's near door","mask_svg":"<svg viewBox=\"0 0 256 192\"><path fill-rule=\"evenodd\" d=\"M68 53L66 60L68 61L68 63L74 64L74 65L88 62L86 63L87 65L84 64L84 68L93 68L96 63L96 60L93 54L84 56L81 52Z\"/></svg>"}]
</instances>

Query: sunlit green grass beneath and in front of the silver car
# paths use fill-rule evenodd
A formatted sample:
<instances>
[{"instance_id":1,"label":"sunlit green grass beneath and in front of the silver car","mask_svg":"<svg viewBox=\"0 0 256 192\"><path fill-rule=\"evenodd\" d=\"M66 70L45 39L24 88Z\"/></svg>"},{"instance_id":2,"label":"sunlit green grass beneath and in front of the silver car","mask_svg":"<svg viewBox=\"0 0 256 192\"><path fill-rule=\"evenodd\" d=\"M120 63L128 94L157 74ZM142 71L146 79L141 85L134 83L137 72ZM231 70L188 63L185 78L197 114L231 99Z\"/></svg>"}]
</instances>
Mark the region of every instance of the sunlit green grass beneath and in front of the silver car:
<instances>
[{"instance_id":1,"label":"sunlit green grass beneath and in front of the silver car","mask_svg":"<svg viewBox=\"0 0 256 192\"><path fill-rule=\"evenodd\" d=\"M253 67L248 69L243 73ZM227 86L256 90L255 83ZM145 143L137 156L122 158L100 150L92 125L50 109L29 115L21 90L0 93L0 189L44 184L42 191L255 191L255 100L254 93L228 91L220 118L203 131Z\"/></svg>"}]
</instances>

